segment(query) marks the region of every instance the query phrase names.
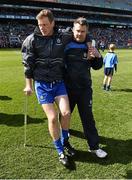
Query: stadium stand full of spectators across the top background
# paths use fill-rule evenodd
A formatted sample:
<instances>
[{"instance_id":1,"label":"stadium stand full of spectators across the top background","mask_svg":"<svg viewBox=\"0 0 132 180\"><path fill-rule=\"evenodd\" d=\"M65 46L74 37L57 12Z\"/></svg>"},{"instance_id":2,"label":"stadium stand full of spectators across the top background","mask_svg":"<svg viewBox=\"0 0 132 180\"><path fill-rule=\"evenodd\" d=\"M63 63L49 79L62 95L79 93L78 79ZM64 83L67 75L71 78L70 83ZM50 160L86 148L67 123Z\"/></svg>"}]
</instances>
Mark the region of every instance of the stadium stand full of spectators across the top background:
<instances>
[{"instance_id":1,"label":"stadium stand full of spectators across the top background","mask_svg":"<svg viewBox=\"0 0 132 180\"><path fill-rule=\"evenodd\" d=\"M0 47L20 47L33 32L35 17L43 8L53 11L59 29L71 27L75 18L83 16L98 45L114 42L117 47L132 47L130 0L1 0Z\"/></svg>"}]
</instances>

